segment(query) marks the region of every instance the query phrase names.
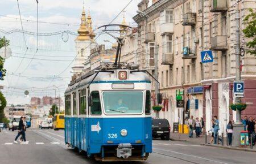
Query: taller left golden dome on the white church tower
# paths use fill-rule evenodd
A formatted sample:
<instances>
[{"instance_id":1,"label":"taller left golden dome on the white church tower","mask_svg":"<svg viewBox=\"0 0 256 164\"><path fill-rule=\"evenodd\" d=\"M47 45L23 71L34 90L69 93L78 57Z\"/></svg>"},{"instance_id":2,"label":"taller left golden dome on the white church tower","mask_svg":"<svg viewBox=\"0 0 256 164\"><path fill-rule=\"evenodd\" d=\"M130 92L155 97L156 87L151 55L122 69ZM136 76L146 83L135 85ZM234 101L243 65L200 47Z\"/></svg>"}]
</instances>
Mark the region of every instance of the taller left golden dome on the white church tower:
<instances>
[{"instance_id":1,"label":"taller left golden dome on the white church tower","mask_svg":"<svg viewBox=\"0 0 256 164\"><path fill-rule=\"evenodd\" d=\"M76 38L77 40L90 40L90 31L86 23L84 7L82 7L81 24L77 32L79 33L79 36Z\"/></svg>"}]
</instances>

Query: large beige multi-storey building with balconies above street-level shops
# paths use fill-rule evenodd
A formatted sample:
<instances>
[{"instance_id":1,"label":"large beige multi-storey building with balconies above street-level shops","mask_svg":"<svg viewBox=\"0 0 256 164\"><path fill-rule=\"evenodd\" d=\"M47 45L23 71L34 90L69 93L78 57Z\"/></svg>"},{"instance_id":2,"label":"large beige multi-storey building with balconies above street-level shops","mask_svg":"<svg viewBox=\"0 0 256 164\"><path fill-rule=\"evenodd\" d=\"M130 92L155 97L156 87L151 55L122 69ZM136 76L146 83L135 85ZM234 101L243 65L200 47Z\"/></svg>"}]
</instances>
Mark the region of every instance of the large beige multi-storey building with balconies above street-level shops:
<instances>
[{"instance_id":1,"label":"large beige multi-storey building with balconies above street-level shops","mask_svg":"<svg viewBox=\"0 0 256 164\"><path fill-rule=\"evenodd\" d=\"M209 130L212 116L217 115L221 132L225 132L228 120L235 118L229 104L233 102L236 73L234 7L237 1L160 0L152 1L151 6L148 2L142 0L138 4L142 12L133 18L138 23L137 62L141 69L154 73L154 53L158 47L158 78L164 97L159 116L171 124L184 123L184 118L191 115L203 117ZM247 8L256 8L253 1L241 1L239 5L241 19ZM241 36L242 46L245 41ZM213 51L213 63L203 64L200 52L209 49ZM241 63L245 81L242 101L250 101L242 114L255 115L252 109L256 106L256 95L248 89L256 89L256 60L245 54ZM176 94L184 94L184 109L177 107Z\"/></svg>"}]
</instances>

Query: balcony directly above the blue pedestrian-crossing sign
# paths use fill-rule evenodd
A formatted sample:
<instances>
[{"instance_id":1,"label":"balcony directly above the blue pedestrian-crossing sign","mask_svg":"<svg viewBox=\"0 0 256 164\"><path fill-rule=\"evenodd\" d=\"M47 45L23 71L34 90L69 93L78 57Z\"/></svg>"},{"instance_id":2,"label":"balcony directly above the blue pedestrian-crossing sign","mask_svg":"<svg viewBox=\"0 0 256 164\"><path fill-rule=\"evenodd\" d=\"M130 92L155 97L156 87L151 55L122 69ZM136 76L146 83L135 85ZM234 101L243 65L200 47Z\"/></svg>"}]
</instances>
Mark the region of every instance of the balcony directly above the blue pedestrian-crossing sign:
<instances>
[{"instance_id":1,"label":"balcony directly above the blue pedestrian-crossing sign","mask_svg":"<svg viewBox=\"0 0 256 164\"><path fill-rule=\"evenodd\" d=\"M214 36L210 38L210 49L214 51L222 51L228 49L227 36Z\"/></svg>"}]
</instances>

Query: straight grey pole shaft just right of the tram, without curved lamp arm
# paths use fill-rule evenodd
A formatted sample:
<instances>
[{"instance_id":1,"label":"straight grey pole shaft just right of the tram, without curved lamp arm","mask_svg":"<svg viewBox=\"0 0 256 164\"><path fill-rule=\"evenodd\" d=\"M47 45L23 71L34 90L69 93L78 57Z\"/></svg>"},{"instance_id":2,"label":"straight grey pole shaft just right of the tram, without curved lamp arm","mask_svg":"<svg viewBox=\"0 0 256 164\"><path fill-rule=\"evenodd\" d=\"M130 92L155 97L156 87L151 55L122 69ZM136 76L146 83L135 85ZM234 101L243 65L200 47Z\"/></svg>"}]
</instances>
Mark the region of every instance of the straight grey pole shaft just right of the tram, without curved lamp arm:
<instances>
[{"instance_id":1,"label":"straight grey pole shaft just right of the tram, without curved lamp arm","mask_svg":"<svg viewBox=\"0 0 256 164\"><path fill-rule=\"evenodd\" d=\"M155 79L158 80L158 45L156 45L155 41ZM158 93L159 93L159 84L155 81L155 96L156 96L156 104L158 104ZM159 118L159 111L156 111L156 118Z\"/></svg>"}]
</instances>

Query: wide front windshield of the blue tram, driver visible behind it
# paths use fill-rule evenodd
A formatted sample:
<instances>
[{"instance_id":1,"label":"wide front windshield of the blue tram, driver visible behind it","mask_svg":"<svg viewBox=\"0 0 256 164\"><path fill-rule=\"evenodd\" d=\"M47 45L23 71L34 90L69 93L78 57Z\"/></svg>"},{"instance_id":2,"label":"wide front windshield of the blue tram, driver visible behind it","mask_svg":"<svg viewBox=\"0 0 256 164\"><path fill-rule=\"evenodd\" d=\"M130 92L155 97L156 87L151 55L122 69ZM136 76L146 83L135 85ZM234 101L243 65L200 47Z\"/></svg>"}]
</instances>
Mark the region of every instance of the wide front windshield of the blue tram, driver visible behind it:
<instances>
[{"instance_id":1,"label":"wide front windshield of the blue tram, driver visible behind it","mask_svg":"<svg viewBox=\"0 0 256 164\"><path fill-rule=\"evenodd\" d=\"M103 92L106 114L140 114L143 111L142 91Z\"/></svg>"}]
</instances>

